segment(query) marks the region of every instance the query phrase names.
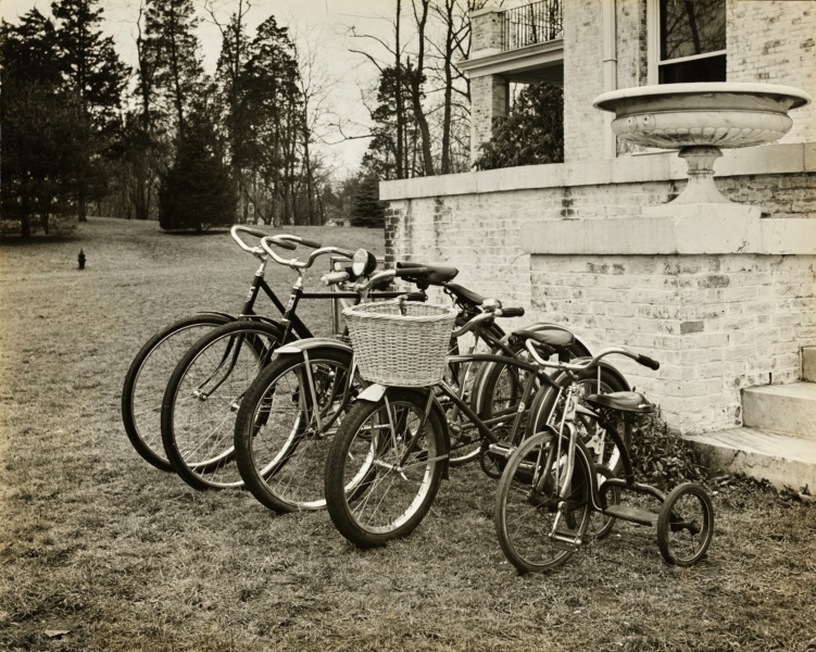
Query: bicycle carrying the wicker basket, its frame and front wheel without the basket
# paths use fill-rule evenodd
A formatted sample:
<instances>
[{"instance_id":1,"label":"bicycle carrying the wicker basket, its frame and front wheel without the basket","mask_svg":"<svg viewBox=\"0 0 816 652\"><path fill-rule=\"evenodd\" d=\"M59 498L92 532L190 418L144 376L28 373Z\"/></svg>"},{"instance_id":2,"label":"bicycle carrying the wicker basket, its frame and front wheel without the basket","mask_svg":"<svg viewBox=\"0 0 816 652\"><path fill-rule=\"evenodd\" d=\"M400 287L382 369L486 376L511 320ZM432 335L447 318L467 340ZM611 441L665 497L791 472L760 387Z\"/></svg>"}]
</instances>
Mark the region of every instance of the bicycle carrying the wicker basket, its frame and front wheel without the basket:
<instances>
[{"instance_id":1,"label":"bicycle carrying the wicker basket, its frame and front wheel without the basket","mask_svg":"<svg viewBox=\"0 0 816 652\"><path fill-rule=\"evenodd\" d=\"M499 316L522 314L522 309L490 302L484 313L470 318L453 336L461 337ZM575 344L575 336L561 328L522 329L511 337L533 342L547 356L565 360ZM380 355L387 355L385 349L371 353L372 359ZM451 356L448 362L495 363L516 369L518 377L524 378L518 403L512 411L485 418L444 379L415 387L400 381L388 386L375 384L362 391L340 424L325 469L325 496L331 521L347 539L361 548L385 546L411 534L430 509L441 479L448 477L451 435L440 399L450 401L465 415L468 427L479 437L482 468L494 475L490 465L501 469L522 441L524 425L529 419L525 406L533 388L553 385L540 365L519 356L472 353ZM362 360L360 364L362 367ZM393 362L386 360L386 366L393 368ZM618 381L619 374L614 369L605 368L603 374L604 378L614 375ZM507 422L510 432L505 435ZM501 439L497 432L502 435Z\"/></svg>"}]
</instances>

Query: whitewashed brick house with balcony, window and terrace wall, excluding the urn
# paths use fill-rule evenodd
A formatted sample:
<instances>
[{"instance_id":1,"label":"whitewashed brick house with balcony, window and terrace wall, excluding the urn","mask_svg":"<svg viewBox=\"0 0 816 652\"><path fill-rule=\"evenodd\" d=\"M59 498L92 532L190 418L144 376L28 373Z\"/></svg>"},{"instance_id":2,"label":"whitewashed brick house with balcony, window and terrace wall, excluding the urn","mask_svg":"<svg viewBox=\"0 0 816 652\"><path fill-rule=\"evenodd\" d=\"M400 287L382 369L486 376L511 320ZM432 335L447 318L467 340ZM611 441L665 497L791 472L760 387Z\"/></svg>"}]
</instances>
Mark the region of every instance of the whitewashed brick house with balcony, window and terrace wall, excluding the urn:
<instances>
[{"instance_id":1,"label":"whitewashed brick house with balcony, window and terrace wall, excluding the urn","mask_svg":"<svg viewBox=\"0 0 816 652\"><path fill-rule=\"evenodd\" d=\"M710 12L696 24L695 8ZM545 0L472 20L462 65L474 155L507 111L507 83L543 79L564 89L564 162L382 183L387 256L456 265L468 287L524 305L518 325L563 324L593 350L622 344L661 361L658 372L620 366L685 434L739 427L743 390L799 381L802 349L816 346L814 104L790 113L778 142L724 150L715 164L719 190L774 234L745 247L714 204L699 206L703 226L682 246L633 233L644 215L674 228L660 206L685 187L686 163L619 141L592 102L693 80L816 97L816 3Z\"/></svg>"}]
</instances>

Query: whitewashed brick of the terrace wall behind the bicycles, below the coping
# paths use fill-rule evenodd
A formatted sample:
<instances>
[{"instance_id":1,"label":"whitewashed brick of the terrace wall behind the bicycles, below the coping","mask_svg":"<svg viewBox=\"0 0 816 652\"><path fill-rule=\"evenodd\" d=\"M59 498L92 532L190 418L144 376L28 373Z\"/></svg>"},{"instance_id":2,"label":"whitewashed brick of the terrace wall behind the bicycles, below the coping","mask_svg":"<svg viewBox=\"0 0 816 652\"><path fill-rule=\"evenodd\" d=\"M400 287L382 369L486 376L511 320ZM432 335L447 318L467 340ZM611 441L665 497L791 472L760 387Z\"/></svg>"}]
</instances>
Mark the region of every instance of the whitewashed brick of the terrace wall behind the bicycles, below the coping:
<instances>
[{"instance_id":1,"label":"whitewashed brick of the terrace wall behind the bicycles, below the coping","mask_svg":"<svg viewBox=\"0 0 816 652\"><path fill-rule=\"evenodd\" d=\"M484 173L482 173L484 174ZM669 423L710 430L740 423L740 389L799 378L816 344L814 256L554 256L526 253L522 224L617 218L677 195L685 181L551 187L394 200L388 259L449 263L457 283L528 314L564 323L594 349L638 348L663 363L622 368ZM813 217L816 176L717 177L730 199L774 217Z\"/></svg>"}]
</instances>

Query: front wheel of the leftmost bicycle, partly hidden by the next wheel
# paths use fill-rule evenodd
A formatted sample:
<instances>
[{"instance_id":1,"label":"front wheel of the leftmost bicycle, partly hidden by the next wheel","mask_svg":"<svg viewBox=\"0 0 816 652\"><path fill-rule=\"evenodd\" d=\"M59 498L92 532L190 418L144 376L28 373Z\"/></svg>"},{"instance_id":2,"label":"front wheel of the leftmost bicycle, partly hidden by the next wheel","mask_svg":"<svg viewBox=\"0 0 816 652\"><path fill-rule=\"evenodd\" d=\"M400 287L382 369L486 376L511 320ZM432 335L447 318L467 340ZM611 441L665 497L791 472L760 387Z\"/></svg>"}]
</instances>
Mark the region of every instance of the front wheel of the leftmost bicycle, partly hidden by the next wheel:
<instances>
[{"instance_id":1,"label":"front wheel of the leftmost bicycle, partly hidden by the next wheel","mask_svg":"<svg viewBox=\"0 0 816 652\"><path fill-rule=\"evenodd\" d=\"M122 387L122 423L130 444L149 464L173 472L162 443L162 398L173 369L204 333L233 317L200 314L179 319L153 335L130 363Z\"/></svg>"}]
</instances>

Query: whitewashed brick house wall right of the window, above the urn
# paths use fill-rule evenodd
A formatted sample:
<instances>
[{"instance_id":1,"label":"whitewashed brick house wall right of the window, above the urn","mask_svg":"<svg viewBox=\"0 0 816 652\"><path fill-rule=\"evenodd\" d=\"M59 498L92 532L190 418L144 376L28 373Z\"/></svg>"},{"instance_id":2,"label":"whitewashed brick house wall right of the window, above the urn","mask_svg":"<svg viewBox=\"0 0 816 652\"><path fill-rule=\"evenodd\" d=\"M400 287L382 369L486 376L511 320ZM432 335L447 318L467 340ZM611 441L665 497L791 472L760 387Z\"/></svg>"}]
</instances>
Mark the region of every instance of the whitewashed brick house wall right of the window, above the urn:
<instances>
[{"instance_id":1,"label":"whitewashed brick house wall right of the window, above the urn","mask_svg":"<svg viewBox=\"0 0 816 652\"><path fill-rule=\"evenodd\" d=\"M729 82L784 84L816 98L816 2L728 2ZM811 104L791 114L793 127L780 142L816 140Z\"/></svg>"}]
</instances>

